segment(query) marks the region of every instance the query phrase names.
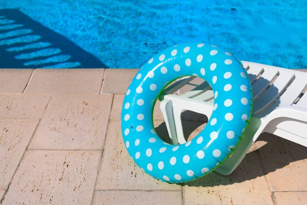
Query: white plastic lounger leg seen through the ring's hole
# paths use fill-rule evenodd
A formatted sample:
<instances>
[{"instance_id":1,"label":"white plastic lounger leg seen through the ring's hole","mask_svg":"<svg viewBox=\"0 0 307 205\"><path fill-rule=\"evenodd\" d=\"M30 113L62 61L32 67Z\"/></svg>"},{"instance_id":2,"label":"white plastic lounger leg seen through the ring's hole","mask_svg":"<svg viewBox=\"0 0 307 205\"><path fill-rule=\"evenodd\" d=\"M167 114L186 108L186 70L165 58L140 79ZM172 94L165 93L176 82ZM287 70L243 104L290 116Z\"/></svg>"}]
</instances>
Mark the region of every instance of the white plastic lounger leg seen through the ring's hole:
<instances>
[{"instance_id":1,"label":"white plastic lounger leg seen through the ring's hole","mask_svg":"<svg viewBox=\"0 0 307 205\"><path fill-rule=\"evenodd\" d=\"M160 110L163 114L168 135L173 145L178 145L176 124L173 117L172 101L170 99L164 99L161 101Z\"/></svg>"}]
</instances>

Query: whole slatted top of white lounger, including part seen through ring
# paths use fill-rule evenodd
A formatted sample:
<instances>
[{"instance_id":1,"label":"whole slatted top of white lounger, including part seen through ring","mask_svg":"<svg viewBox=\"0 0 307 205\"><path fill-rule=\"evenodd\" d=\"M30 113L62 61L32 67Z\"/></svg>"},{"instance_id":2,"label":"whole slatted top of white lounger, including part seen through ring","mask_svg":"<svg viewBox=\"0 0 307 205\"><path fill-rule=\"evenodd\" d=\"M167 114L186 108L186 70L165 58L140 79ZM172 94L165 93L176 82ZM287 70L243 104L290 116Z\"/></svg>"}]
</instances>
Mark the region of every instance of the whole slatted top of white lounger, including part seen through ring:
<instances>
[{"instance_id":1,"label":"whole slatted top of white lounger, including part seen through ring","mask_svg":"<svg viewBox=\"0 0 307 205\"><path fill-rule=\"evenodd\" d=\"M267 66L249 61L242 61L252 83L253 114L265 117L280 106L297 106L307 109L307 72L294 69L284 69ZM172 94L185 85L192 85L190 81L195 76L179 79L164 91L164 95ZM212 101L213 93L207 82L194 85L194 88L183 94L183 97L195 100ZM305 92L305 94L304 94Z\"/></svg>"}]
</instances>

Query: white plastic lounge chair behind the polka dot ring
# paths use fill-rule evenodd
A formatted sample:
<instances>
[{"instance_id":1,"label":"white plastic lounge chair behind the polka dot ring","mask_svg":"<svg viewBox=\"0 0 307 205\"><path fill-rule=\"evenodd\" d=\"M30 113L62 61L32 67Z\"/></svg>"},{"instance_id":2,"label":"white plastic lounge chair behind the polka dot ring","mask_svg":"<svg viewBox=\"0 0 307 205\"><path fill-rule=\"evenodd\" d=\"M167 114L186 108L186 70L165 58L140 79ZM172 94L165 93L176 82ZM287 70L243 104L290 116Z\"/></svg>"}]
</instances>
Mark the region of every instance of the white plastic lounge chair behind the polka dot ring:
<instances>
[{"instance_id":1,"label":"white plastic lounge chair behind the polka dot ring","mask_svg":"<svg viewBox=\"0 0 307 205\"><path fill-rule=\"evenodd\" d=\"M234 153L215 170L229 175L245 157L246 152L263 132L307 147L307 73L242 61L253 89L253 115L240 145ZM207 115L213 110L213 92L206 83L178 96L176 92L188 84L194 76L181 79L164 90L160 96L168 134L173 144L186 142L182 129L181 112L190 110Z\"/></svg>"}]
</instances>

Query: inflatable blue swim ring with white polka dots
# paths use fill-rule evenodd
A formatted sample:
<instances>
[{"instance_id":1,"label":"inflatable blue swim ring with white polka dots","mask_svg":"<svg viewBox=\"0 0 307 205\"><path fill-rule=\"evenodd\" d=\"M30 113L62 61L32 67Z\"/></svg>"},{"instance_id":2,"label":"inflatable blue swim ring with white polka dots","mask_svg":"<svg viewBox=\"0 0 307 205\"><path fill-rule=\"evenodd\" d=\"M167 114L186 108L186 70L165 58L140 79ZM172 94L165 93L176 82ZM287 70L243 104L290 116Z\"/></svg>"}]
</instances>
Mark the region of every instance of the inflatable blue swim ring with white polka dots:
<instances>
[{"instance_id":1,"label":"inflatable blue swim ring with white polka dots","mask_svg":"<svg viewBox=\"0 0 307 205\"><path fill-rule=\"evenodd\" d=\"M214 93L206 127L182 145L169 145L156 133L152 111L159 94L174 79L197 75ZM242 63L227 50L197 43L167 48L139 70L123 102L124 144L137 165L153 178L187 182L215 170L244 136L252 110L252 88Z\"/></svg>"}]
</instances>

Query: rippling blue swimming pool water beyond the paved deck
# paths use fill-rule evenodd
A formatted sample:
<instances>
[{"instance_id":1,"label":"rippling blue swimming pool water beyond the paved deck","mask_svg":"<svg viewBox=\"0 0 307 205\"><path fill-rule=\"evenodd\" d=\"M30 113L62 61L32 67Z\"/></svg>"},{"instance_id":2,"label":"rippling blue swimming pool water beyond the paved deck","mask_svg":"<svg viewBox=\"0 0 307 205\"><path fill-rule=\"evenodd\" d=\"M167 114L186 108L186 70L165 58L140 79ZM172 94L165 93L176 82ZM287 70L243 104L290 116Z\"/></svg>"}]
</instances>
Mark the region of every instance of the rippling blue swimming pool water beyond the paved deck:
<instances>
[{"instance_id":1,"label":"rippling blue swimming pool water beyond the paved deck","mask_svg":"<svg viewBox=\"0 0 307 205\"><path fill-rule=\"evenodd\" d=\"M307 68L307 2L0 0L1 67L140 68L184 42Z\"/></svg>"}]
</instances>

